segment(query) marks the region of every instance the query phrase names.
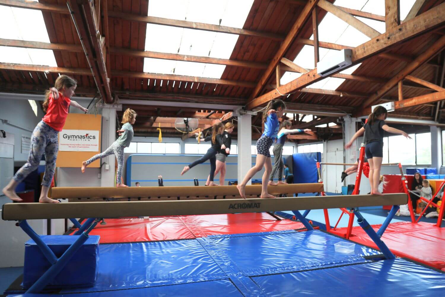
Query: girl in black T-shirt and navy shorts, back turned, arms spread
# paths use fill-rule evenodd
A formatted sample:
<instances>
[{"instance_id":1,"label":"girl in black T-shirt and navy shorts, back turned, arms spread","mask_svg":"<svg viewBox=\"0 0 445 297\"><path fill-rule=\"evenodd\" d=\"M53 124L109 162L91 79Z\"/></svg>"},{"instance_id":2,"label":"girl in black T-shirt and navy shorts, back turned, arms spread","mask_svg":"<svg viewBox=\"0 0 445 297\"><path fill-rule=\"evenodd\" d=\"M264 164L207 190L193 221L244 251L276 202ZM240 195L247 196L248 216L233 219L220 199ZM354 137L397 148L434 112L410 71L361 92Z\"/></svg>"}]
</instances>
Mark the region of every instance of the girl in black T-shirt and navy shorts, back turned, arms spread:
<instances>
[{"instance_id":1,"label":"girl in black T-shirt and navy shorts, back turned, arms spread","mask_svg":"<svg viewBox=\"0 0 445 297\"><path fill-rule=\"evenodd\" d=\"M388 111L383 106L377 106L372 114L369 115L368 122L352 136L351 140L345 146L347 149L350 148L352 142L364 133L364 140L366 141L365 153L369 163L369 183L371 185L372 195L383 195L378 190L378 186L380 167L382 167L383 159L384 131L393 134L402 134L406 138L411 139L404 131L386 125L384 120L387 116Z\"/></svg>"}]
</instances>

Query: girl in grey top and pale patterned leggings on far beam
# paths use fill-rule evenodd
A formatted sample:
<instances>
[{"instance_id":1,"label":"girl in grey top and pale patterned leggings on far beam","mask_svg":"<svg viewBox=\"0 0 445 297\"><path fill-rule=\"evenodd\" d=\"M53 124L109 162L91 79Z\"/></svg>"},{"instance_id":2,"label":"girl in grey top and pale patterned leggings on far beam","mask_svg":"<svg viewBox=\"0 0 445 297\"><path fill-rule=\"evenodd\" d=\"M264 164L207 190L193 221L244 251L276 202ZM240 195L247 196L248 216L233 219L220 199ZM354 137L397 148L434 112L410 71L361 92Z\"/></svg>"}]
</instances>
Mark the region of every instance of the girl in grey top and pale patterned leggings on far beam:
<instances>
[{"instance_id":1,"label":"girl in grey top and pale patterned leggings on far beam","mask_svg":"<svg viewBox=\"0 0 445 297\"><path fill-rule=\"evenodd\" d=\"M122 169L124 168L124 148L130 145L133 140L133 126L136 122L136 112L127 108L124 115L122 116L122 128L117 131L119 133L119 138L109 148L107 148L103 153L93 156L91 159L82 162L82 173L85 172L85 168L96 161L97 159L105 158L108 155L116 155L117 159L117 175L116 175L116 187L128 187L122 183Z\"/></svg>"}]
</instances>

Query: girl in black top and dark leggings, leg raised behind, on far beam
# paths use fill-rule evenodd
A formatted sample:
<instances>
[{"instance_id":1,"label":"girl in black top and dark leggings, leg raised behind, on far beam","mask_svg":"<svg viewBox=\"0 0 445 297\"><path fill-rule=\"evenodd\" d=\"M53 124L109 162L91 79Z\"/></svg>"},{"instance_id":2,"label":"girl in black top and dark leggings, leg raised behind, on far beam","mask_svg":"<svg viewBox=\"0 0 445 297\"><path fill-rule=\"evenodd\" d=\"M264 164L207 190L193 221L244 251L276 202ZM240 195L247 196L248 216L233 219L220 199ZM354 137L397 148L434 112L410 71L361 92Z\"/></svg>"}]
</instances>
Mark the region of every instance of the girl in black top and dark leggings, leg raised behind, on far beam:
<instances>
[{"instance_id":1,"label":"girl in black top and dark leggings, leg raised behind, on far beam","mask_svg":"<svg viewBox=\"0 0 445 297\"><path fill-rule=\"evenodd\" d=\"M219 186L218 184L213 182L215 170L216 170L216 154L218 151L225 150L226 146L224 145L223 137L221 136L224 132L224 124L222 122L216 123L212 127L212 146L207 150L206 154L203 155L198 160L190 163L189 166L184 167L182 169L181 175L190 170L190 168L195 167L198 164L202 164L207 160L210 160L210 175L209 175L209 186Z\"/></svg>"}]
</instances>

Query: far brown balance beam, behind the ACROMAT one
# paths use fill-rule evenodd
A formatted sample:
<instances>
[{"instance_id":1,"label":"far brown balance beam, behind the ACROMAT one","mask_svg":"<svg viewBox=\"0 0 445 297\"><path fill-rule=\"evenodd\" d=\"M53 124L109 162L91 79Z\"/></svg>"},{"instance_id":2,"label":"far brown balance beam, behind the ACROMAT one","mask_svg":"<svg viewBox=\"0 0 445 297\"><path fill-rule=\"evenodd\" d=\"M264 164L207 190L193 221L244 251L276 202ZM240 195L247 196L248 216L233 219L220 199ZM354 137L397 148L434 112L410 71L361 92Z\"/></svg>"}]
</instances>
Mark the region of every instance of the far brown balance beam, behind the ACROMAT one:
<instances>
[{"instance_id":1,"label":"far brown balance beam, behind the ACROMAT one","mask_svg":"<svg viewBox=\"0 0 445 297\"><path fill-rule=\"evenodd\" d=\"M319 193L323 183L269 186L269 194ZM247 186L246 195L260 195L261 185ZM239 195L235 186L218 187L53 187L51 198L223 197Z\"/></svg>"}]
</instances>

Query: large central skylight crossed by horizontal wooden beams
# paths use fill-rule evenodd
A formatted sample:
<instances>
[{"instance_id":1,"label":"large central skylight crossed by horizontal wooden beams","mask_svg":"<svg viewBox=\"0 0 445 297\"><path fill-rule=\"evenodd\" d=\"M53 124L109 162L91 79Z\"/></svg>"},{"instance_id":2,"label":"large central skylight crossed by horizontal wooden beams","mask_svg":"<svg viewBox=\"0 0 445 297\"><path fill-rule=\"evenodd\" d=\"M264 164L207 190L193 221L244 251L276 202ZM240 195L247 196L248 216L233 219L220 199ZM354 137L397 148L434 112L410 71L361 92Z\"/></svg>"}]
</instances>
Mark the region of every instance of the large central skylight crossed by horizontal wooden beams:
<instances>
[{"instance_id":1,"label":"large central skylight crossed by horizontal wooden beams","mask_svg":"<svg viewBox=\"0 0 445 297\"><path fill-rule=\"evenodd\" d=\"M242 28L252 3L253 0L150 0L148 15ZM149 24L146 51L229 59L237 40L236 34ZM152 65L144 65L144 69L172 73L171 62L162 68L162 62L145 61ZM186 61L174 63L174 74L212 78L221 78L226 67Z\"/></svg>"}]
</instances>

